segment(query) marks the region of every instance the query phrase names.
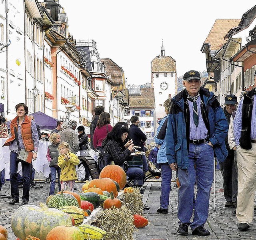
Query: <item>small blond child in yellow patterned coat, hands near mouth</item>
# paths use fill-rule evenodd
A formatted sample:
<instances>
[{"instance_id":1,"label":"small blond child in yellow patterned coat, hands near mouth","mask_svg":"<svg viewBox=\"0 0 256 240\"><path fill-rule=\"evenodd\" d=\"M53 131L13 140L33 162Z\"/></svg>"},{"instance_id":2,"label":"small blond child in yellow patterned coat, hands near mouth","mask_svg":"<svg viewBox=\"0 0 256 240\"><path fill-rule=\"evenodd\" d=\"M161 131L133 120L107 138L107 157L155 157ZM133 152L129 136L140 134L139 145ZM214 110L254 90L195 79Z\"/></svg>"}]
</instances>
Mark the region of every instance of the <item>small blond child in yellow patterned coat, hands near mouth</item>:
<instances>
[{"instance_id":1,"label":"small blond child in yellow patterned coat, hands near mouth","mask_svg":"<svg viewBox=\"0 0 256 240\"><path fill-rule=\"evenodd\" d=\"M76 154L69 151L67 142L61 142L58 146L60 156L58 157L58 166L61 168L60 185L61 189L66 190L69 187L70 191L74 190L75 180L77 179L76 167L79 159Z\"/></svg>"}]
</instances>

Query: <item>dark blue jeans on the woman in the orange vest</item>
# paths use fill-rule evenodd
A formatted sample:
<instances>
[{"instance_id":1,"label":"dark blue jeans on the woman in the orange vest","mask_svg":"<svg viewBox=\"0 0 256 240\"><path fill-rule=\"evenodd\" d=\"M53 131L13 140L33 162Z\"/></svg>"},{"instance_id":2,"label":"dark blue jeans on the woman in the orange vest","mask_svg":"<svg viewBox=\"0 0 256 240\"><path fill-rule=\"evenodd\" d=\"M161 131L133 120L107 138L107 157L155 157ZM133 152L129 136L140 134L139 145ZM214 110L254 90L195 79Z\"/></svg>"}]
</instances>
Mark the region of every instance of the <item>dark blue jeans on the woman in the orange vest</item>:
<instances>
[{"instance_id":1,"label":"dark blue jeans on the woman in the orange vest","mask_svg":"<svg viewBox=\"0 0 256 240\"><path fill-rule=\"evenodd\" d=\"M10 183L11 183L11 195L12 199L19 200L19 187L18 187L18 164L16 161L18 153L11 151L10 154ZM29 189L30 189L30 164L21 163L22 178L23 178L23 196L22 200L29 201Z\"/></svg>"}]
</instances>

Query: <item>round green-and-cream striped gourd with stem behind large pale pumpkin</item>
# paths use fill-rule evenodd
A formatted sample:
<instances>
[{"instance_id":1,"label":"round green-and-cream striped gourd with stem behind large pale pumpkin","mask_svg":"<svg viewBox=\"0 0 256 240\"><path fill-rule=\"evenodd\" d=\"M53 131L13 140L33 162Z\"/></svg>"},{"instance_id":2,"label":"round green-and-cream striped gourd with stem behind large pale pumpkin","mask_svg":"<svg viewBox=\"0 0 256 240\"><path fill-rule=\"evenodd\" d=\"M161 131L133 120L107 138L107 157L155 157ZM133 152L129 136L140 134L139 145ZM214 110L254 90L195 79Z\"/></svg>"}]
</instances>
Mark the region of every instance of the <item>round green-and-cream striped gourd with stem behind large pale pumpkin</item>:
<instances>
[{"instance_id":1,"label":"round green-and-cream striped gourd with stem behind large pale pumpkin","mask_svg":"<svg viewBox=\"0 0 256 240\"><path fill-rule=\"evenodd\" d=\"M53 195L48 203L48 207L54 207L58 209L63 206L76 206L79 207L78 201L76 198L68 193L63 193L64 190L61 191L60 194Z\"/></svg>"}]
</instances>

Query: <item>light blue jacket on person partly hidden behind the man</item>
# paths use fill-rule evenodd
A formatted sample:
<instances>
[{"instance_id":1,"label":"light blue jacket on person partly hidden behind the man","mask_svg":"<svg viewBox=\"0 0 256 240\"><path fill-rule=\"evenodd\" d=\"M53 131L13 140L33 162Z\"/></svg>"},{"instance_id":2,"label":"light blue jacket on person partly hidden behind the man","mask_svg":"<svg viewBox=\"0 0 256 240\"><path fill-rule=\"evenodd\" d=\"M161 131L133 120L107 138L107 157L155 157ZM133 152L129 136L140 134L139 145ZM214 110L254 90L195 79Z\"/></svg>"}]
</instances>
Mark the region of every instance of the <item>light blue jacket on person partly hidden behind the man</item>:
<instances>
[{"instance_id":1,"label":"light blue jacket on person partly hidden behind the man","mask_svg":"<svg viewBox=\"0 0 256 240\"><path fill-rule=\"evenodd\" d=\"M157 153L157 163L168 162L166 157L166 128L169 115L170 114L160 120L159 126L156 130L155 143L161 145Z\"/></svg>"}]
</instances>

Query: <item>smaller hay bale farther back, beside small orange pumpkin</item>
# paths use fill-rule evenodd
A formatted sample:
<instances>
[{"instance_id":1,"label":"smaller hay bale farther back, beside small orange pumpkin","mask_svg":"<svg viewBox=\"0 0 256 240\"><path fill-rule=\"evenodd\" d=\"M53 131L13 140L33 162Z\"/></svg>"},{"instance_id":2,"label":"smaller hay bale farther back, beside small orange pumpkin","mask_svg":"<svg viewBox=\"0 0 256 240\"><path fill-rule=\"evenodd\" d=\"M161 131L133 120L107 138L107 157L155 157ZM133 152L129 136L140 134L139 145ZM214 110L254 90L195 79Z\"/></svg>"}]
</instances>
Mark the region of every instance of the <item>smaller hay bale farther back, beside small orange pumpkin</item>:
<instances>
[{"instance_id":1,"label":"smaller hay bale farther back, beside small orange pumpkin","mask_svg":"<svg viewBox=\"0 0 256 240\"><path fill-rule=\"evenodd\" d=\"M142 201L142 194L140 194L141 188L134 188L132 193L124 193L120 198L120 201L125 205L132 214L143 215L144 204Z\"/></svg>"}]
</instances>

